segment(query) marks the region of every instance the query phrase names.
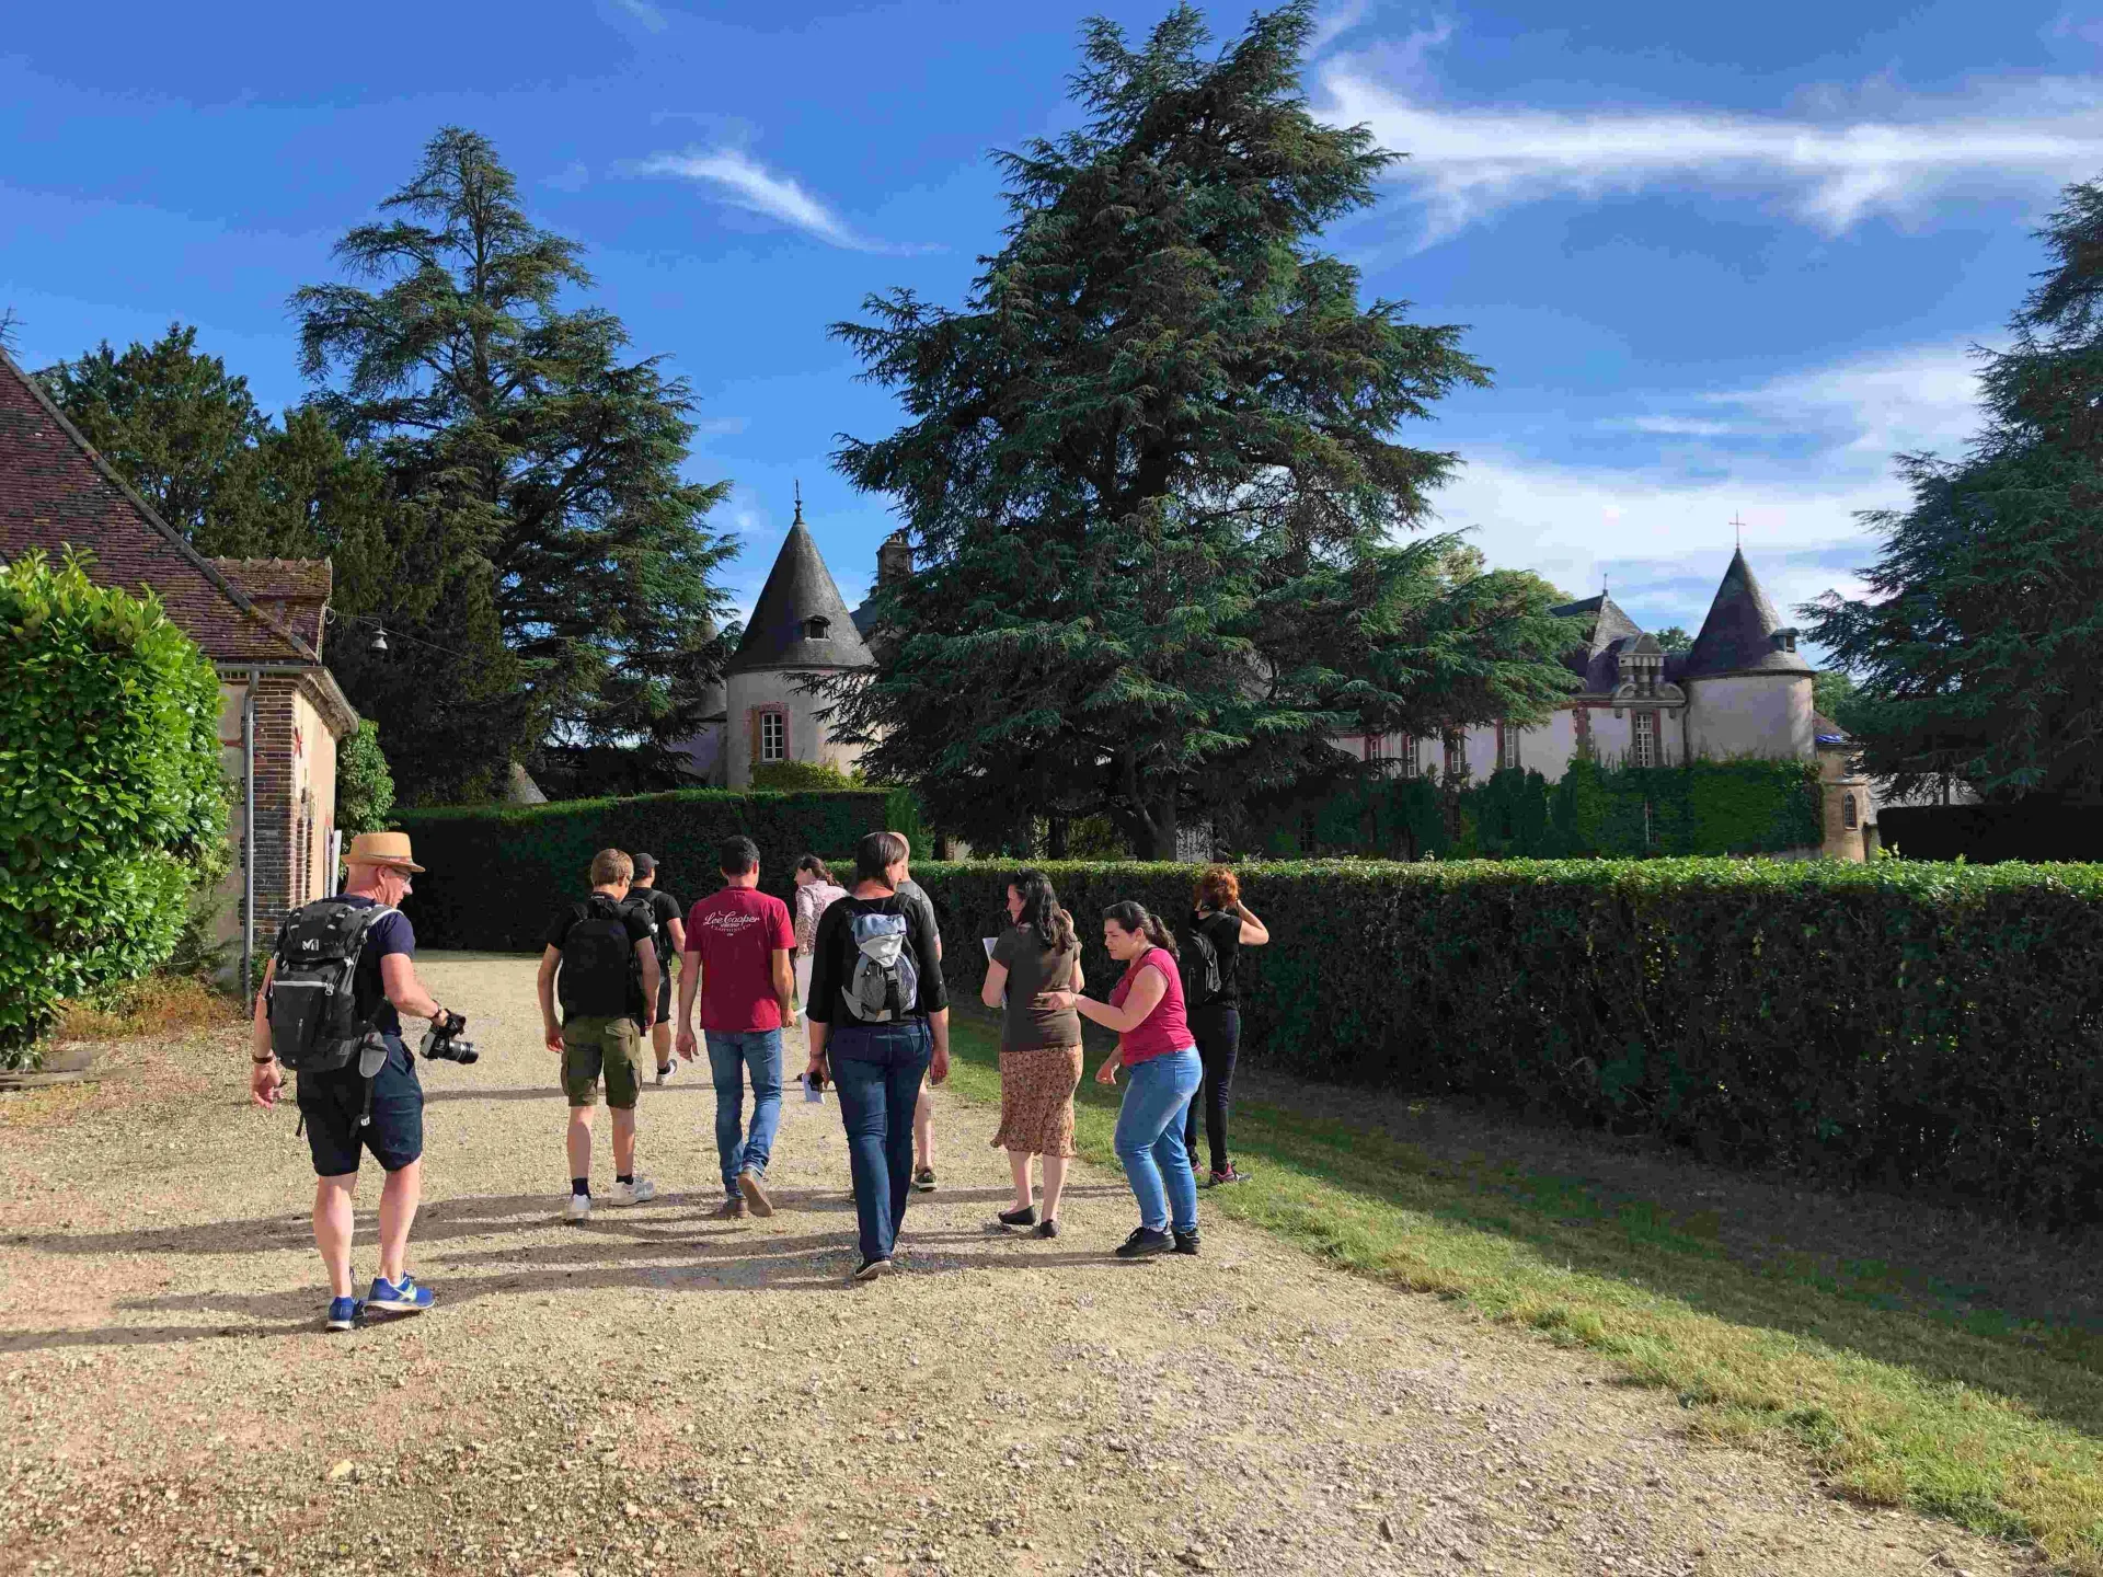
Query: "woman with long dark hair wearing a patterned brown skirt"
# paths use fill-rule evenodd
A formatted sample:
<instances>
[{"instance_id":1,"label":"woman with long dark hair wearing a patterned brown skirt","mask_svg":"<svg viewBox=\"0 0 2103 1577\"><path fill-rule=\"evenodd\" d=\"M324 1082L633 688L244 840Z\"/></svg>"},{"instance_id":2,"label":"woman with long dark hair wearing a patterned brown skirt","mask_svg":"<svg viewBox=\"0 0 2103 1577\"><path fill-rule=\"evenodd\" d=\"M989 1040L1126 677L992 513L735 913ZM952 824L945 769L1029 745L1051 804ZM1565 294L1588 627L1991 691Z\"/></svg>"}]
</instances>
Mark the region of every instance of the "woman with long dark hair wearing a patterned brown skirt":
<instances>
[{"instance_id":1,"label":"woman with long dark hair wearing a patterned brown skirt","mask_svg":"<svg viewBox=\"0 0 2103 1577\"><path fill-rule=\"evenodd\" d=\"M1081 942L1073 915L1043 871L1018 871L1007 883L1012 925L993 944L986 984L978 999L1001 1013L1001 1129L993 1144L1007 1148L1016 1173L1016 1205L1001 1211L1001 1226L1035 1226L1037 1236L1058 1236L1058 1201L1066 1188L1073 1148L1073 1091L1081 1083L1081 1016L1052 1007L1047 990L1081 988ZM1030 1156L1043 1156L1045 1215L1030 1199Z\"/></svg>"}]
</instances>

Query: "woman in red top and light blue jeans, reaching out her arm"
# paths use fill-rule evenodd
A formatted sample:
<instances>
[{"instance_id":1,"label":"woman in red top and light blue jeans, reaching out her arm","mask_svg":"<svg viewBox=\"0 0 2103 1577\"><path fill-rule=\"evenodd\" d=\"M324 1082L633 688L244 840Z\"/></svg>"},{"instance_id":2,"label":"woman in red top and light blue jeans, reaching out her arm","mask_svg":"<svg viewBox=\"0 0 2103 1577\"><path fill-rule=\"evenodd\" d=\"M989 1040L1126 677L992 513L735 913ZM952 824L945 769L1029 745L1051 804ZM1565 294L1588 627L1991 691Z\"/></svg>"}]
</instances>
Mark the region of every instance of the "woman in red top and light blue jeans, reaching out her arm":
<instances>
[{"instance_id":1,"label":"woman in red top and light blue jeans, reaching out her arm","mask_svg":"<svg viewBox=\"0 0 2103 1577\"><path fill-rule=\"evenodd\" d=\"M1098 1085L1115 1085L1119 1064L1131 1072L1117 1110L1117 1159L1140 1201L1140 1228L1119 1245L1117 1257L1197 1253L1197 1177L1182 1125L1205 1070L1184 1020L1176 938L1142 904L1125 900L1102 910L1102 946L1125 965L1110 1001L1060 990L1045 1005L1070 1005L1081 1018L1117 1030L1117 1051L1096 1070Z\"/></svg>"}]
</instances>

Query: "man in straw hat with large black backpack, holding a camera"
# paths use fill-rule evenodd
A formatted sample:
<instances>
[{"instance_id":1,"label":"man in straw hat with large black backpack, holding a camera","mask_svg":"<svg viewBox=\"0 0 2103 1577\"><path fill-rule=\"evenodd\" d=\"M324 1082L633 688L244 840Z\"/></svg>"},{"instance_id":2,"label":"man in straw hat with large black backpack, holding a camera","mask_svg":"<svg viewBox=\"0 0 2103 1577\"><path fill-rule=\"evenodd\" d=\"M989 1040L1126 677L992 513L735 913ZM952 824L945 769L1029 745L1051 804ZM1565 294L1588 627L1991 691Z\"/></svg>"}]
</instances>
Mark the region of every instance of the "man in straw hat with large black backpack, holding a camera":
<instances>
[{"instance_id":1,"label":"man in straw hat with large black backpack, holding a camera","mask_svg":"<svg viewBox=\"0 0 2103 1577\"><path fill-rule=\"evenodd\" d=\"M368 1079L353 1062L336 1072L299 1074L299 1114L313 1150L313 1243L328 1268L328 1329L349 1331L366 1310L421 1314L431 1306L431 1289L421 1287L404 1264L408 1228L423 1199L423 1085L416 1062L402 1043L402 1013L446 1022L446 1009L416 980L416 934L400 913L410 894L410 877L423 871L410 856L408 833L360 833L343 856L349 877L336 898L324 904L351 908L381 906L364 931L358 955L355 997L370 1007L370 1024L387 1041L387 1062ZM288 921L290 925L290 921ZM278 971L273 957L263 971L254 1016L254 1074L250 1093L259 1106L275 1106L284 1068L271 1049L269 988ZM370 1121L362 1114L370 1112ZM372 1150L387 1182L381 1188L381 1266L370 1293L360 1299L351 1285L351 1226L358 1194L360 1150Z\"/></svg>"}]
</instances>

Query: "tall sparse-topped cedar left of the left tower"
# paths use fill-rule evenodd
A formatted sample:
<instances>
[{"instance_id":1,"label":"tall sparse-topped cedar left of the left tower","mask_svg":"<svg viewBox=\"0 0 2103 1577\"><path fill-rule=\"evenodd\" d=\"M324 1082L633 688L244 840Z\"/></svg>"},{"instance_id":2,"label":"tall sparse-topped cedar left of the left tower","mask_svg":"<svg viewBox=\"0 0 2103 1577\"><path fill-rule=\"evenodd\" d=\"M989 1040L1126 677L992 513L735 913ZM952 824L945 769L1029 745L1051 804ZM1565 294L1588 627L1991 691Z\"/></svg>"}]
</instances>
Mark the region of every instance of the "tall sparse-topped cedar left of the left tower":
<instances>
[{"instance_id":1,"label":"tall sparse-topped cedar left of the left tower","mask_svg":"<svg viewBox=\"0 0 2103 1577\"><path fill-rule=\"evenodd\" d=\"M580 248L528 221L484 137L442 130L383 208L336 242L374 288L292 296L301 366L397 496L488 566L524 675L511 757L690 734L728 656L713 572L736 553L705 524L730 484L679 479L692 389L660 357L622 360L612 313L564 309L591 286ZM452 612L431 610L433 641L452 643Z\"/></svg>"}]
</instances>

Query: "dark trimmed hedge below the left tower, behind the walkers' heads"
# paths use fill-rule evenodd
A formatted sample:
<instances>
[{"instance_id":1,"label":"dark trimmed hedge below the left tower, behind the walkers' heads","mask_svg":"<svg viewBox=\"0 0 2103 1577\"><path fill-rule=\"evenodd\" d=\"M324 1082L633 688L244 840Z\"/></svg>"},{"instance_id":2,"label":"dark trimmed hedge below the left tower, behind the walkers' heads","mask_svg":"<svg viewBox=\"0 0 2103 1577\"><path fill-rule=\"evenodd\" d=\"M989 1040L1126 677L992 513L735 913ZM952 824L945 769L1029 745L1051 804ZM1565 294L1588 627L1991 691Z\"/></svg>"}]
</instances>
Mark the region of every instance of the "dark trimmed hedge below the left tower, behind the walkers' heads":
<instances>
[{"instance_id":1,"label":"dark trimmed hedge below the left tower, behind the walkers' heads","mask_svg":"<svg viewBox=\"0 0 2103 1577\"><path fill-rule=\"evenodd\" d=\"M864 833L881 833L883 801L873 788L679 788L557 805L406 810L395 824L427 871L404 913L425 946L538 953L555 906L587 889L585 873L599 849L654 854L658 885L692 902L721 885L715 852L738 833L759 845L759 885L784 896L797 856L852 849Z\"/></svg>"}]
</instances>

